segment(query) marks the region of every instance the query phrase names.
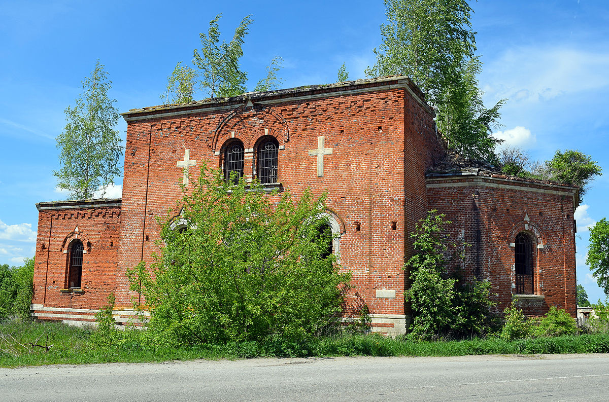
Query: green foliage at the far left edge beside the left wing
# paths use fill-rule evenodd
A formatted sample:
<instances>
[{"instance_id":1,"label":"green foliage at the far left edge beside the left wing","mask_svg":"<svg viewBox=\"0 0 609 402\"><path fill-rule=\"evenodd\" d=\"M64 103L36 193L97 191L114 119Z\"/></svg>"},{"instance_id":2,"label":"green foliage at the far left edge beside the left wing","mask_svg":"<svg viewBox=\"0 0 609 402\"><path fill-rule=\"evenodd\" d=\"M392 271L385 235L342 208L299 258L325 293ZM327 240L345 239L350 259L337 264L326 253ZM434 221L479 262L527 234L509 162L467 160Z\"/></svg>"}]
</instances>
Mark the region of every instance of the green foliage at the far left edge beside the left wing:
<instances>
[{"instance_id":1,"label":"green foliage at the far left edge beside the left wing","mask_svg":"<svg viewBox=\"0 0 609 402\"><path fill-rule=\"evenodd\" d=\"M0 321L13 315L23 320L32 318L33 272L33 258L26 258L19 267L0 265Z\"/></svg>"}]
</instances>

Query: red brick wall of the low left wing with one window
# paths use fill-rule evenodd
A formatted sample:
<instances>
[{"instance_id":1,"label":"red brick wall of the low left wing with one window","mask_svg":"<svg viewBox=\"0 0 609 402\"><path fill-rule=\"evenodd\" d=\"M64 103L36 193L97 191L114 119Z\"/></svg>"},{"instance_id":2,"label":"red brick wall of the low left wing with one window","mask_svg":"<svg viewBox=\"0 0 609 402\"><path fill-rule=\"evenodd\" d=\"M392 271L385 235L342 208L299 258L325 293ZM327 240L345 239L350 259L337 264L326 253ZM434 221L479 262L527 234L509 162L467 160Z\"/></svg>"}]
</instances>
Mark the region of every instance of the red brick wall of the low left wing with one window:
<instances>
[{"instance_id":1,"label":"red brick wall of the low left wing with one window","mask_svg":"<svg viewBox=\"0 0 609 402\"><path fill-rule=\"evenodd\" d=\"M107 304L108 294L116 288L120 219L120 206L40 210L32 303L44 307L92 309ZM74 232L76 226L77 233ZM60 291L68 287L68 246L74 238L83 242L86 251L83 254L82 294Z\"/></svg>"}]
</instances>

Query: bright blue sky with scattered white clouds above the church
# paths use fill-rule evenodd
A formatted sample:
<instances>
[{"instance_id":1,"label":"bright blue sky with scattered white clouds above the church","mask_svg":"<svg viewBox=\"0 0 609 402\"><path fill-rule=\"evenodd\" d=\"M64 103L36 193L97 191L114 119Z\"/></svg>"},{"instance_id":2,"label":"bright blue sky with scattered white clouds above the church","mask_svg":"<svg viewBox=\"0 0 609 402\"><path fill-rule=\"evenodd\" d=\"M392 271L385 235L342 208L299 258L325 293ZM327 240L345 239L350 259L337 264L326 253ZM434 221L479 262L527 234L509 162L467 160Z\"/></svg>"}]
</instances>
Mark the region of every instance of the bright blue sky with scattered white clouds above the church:
<instances>
[{"instance_id":1,"label":"bright blue sky with scattered white clouds above the church","mask_svg":"<svg viewBox=\"0 0 609 402\"><path fill-rule=\"evenodd\" d=\"M0 263L33 255L39 201L64 199L52 170L64 109L97 58L120 111L158 105L167 75L189 63L199 32L223 13L229 35L252 14L242 66L253 89L275 56L284 87L336 81L340 64L363 78L385 21L367 1L0 1ZM609 196L609 4L606 0L474 2L485 102L507 98L497 136L532 159L578 149L605 168L576 212L577 280L604 299L585 265L588 227L607 217ZM204 94L195 95L202 99ZM126 124L118 130L124 138ZM121 178L109 196L120 196Z\"/></svg>"}]
</instances>

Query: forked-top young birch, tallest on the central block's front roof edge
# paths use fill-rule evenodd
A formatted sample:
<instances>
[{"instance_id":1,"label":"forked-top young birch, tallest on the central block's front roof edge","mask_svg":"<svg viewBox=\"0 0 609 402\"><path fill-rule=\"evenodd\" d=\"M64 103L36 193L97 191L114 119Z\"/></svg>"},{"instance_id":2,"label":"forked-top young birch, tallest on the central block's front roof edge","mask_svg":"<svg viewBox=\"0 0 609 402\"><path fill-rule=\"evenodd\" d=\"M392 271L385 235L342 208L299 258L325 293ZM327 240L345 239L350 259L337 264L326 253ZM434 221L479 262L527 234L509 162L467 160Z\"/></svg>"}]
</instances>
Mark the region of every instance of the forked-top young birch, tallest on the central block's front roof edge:
<instances>
[{"instance_id":1,"label":"forked-top young birch, tallest on the central block's front roof edge","mask_svg":"<svg viewBox=\"0 0 609 402\"><path fill-rule=\"evenodd\" d=\"M220 43L218 21L222 14L209 21L208 33L200 33L201 50L194 50L192 63L200 69L201 86L209 96L227 97L241 95L246 91L247 73L241 71L239 59L243 55L242 45L252 18L246 16L234 30L233 39Z\"/></svg>"}]
</instances>

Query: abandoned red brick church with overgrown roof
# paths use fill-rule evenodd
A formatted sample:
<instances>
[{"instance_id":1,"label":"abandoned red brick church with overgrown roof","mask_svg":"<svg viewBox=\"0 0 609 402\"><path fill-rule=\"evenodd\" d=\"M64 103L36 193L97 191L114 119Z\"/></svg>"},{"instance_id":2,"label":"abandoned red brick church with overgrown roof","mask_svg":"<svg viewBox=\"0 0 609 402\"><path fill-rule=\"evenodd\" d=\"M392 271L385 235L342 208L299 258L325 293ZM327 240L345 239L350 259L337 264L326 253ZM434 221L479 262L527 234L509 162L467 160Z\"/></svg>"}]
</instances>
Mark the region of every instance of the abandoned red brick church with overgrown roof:
<instances>
[{"instance_id":1,"label":"abandoned red brick church with overgrown roof","mask_svg":"<svg viewBox=\"0 0 609 402\"><path fill-rule=\"evenodd\" d=\"M373 331L406 330L409 236L432 209L452 221L452 238L471 244L465 273L490 280L499 309L515 298L526 314L554 305L576 315L577 189L446 163L434 112L409 78L250 92L123 116L122 199L37 204L38 319L94 321L111 292L116 321L132 316L125 270L151 260L155 217L175 205L180 183L196 179L203 162L268 189L327 190L333 251Z\"/></svg>"}]
</instances>

